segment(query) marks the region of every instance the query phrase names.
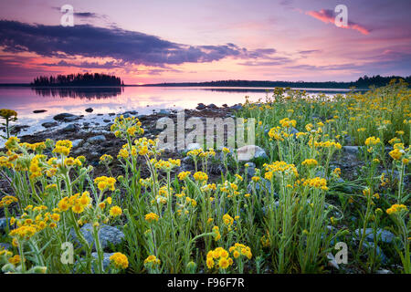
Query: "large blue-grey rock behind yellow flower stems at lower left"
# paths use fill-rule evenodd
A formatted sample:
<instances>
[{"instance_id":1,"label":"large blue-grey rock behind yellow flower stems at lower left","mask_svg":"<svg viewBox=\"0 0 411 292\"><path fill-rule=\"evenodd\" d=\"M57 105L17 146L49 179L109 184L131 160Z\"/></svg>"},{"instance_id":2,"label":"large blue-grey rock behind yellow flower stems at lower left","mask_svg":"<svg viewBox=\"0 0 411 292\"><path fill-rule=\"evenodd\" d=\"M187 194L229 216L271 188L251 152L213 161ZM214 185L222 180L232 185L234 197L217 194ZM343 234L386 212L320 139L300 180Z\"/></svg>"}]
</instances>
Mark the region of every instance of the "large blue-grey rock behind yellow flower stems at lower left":
<instances>
[{"instance_id":1,"label":"large blue-grey rock behind yellow flower stems at lower left","mask_svg":"<svg viewBox=\"0 0 411 292\"><path fill-rule=\"evenodd\" d=\"M91 224L84 224L81 229L80 229L81 234L84 236L86 241L89 243L89 245L93 245L92 249L95 250L96 246L94 243L94 236L93 236L93 227ZM81 245L79 243L79 239L77 238L77 235L75 234L74 230L70 230L70 236L73 238L73 240ZM118 245L121 243L121 240L124 238L124 234L121 232L116 227L112 227L106 224L100 225L100 230L99 230L99 239L100 239L100 245L102 249L105 249L109 247L110 245Z\"/></svg>"}]
</instances>

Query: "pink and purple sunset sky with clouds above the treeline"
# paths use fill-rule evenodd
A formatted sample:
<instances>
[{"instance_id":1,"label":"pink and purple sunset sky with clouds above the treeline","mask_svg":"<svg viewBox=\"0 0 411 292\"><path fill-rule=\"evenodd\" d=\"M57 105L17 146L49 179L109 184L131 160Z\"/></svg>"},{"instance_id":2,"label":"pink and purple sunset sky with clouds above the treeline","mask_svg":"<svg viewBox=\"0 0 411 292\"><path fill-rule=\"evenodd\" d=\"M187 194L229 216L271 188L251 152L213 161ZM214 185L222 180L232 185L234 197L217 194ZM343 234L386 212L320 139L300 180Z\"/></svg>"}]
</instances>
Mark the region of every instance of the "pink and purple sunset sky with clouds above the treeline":
<instances>
[{"instance_id":1,"label":"pink and purple sunset sky with clouds above the treeline","mask_svg":"<svg viewBox=\"0 0 411 292\"><path fill-rule=\"evenodd\" d=\"M61 25L63 5L74 26ZM410 11L410 0L0 0L0 83L85 72L125 84L408 76Z\"/></svg>"}]
</instances>

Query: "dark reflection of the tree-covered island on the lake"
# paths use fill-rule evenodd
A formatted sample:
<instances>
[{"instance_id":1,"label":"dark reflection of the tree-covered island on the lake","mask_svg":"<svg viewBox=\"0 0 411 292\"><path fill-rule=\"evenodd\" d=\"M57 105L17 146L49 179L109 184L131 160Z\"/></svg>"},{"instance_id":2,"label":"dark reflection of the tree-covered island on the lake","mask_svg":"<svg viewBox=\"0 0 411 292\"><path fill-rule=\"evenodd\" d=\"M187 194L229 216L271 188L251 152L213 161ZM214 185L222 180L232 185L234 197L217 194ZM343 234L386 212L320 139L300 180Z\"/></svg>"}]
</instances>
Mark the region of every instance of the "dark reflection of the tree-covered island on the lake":
<instances>
[{"instance_id":1,"label":"dark reflection of the tree-covered island on the lake","mask_svg":"<svg viewBox=\"0 0 411 292\"><path fill-rule=\"evenodd\" d=\"M108 99L120 96L124 92L122 87L81 87L81 88L31 88L37 95L54 98L73 99Z\"/></svg>"}]
</instances>

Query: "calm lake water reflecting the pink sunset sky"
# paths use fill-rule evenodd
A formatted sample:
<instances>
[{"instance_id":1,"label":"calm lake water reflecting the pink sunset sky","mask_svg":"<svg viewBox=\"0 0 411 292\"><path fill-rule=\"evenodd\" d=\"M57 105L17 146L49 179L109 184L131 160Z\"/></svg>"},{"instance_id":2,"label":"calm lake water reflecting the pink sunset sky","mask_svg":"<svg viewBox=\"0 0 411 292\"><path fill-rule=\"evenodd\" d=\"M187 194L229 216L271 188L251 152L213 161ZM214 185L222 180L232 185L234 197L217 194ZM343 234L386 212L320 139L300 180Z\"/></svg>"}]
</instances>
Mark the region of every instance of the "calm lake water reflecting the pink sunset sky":
<instances>
[{"instance_id":1,"label":"calm lake water reflecting the pink sunset sky","mask_svg":"<svg viewBox=\"0 0 411 292\"><path fill-rule=\"evenodd\" d=\"M29 128L19 135L44 130L43 122L53 121L58 113L68 112L84 115L84 121L99 122L112 120L109 113L137 110L139 114L150 114L153 110L195 109L199 102L214 103L216 106L232 106L245 101L265 99L266 89L247 88L175 88L175 87L125 87L125 88L1 88L0 109L16 110L18 124ZM316 91L315 89L312 91ZM317 90L319 91L319 90ZM330 89L322 89L322 92ZM92 108L92 113L85 110ZM33 110L47 110L34 113ZM103 115L98 115L103 114ZM78 121L79 122L79 121ZM66 126L63 123L60 127ZM56 129L56 128L54 128ZM0 144L3 144L0 142Z\"/></svg>"}]
</instances>

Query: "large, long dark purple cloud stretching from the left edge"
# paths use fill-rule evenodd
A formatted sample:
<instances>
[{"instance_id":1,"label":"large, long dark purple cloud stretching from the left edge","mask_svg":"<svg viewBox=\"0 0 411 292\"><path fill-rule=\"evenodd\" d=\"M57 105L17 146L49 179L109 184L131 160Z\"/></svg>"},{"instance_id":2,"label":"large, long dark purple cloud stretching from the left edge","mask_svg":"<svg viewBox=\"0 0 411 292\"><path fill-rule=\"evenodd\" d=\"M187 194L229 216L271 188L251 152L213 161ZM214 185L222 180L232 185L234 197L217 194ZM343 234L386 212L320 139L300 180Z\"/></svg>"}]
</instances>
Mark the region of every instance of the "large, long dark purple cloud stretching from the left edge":
<instances>
[{"instance_id":1,"label":"large, long dark purple cloud stretching from the left edge","mask_svg":"<svg viewBox=\"0 0 411 292\"><path fill-rule=\"evenodd\" d=\"M111 57L130 64L165 66L201 63L225 57L268 57L275 49L248 50L235 44L189 46L118 27L44 26L0 20L5 52L34 52L44 57Z\"/></svg>"}]
</instances>

